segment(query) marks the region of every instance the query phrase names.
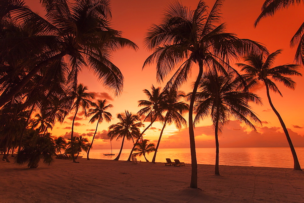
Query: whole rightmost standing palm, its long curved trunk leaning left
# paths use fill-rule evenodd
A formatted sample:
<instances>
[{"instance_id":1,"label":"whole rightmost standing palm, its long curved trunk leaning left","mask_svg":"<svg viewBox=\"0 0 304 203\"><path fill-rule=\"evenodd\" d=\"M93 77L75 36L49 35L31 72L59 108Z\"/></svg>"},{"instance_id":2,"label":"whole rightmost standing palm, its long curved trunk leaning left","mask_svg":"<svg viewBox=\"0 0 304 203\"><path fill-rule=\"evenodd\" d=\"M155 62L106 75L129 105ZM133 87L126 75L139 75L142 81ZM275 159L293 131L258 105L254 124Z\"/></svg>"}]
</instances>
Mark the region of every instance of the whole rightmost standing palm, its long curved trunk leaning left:
<instances>
[{"instance_id":1,"label":"whole rightmost standing palm, its long curved trunk leaning left","mask_svg":"<svg viewBox=\"0 0 304 203\"><path fill-rule=\"evenodd\" d=\"M288 144L292 152L293 161L294 161L293 169L301 170L299 160L295 152L295 148L293 147L292 141L290 139L288 130L285 126L285 123L283 122L281 115L272 104L269 94L269 89L271 89L275 93L279 93L282 96L281 92L279 91L274 81L281 82L290 89L295 89L295 81L293 81L292 78L287 76L292 76L292 75L302 76L302 74L298 72L299 65L296 64L285 64L285 65L272 67L275 58L280 53L281 50L277 50L276 52L268 55L267 58L265 58L262 55L251 55L248 57L244 57L244 60L245 62L247 62L247 64L236 64L236 65L241 67L242 71L246 72L246 74L244 74L244 77L247 77L248 80L250 81L249 87L253 87L257 84L260 84L260 82L266 87L266 93L269 104L281 123L281 126L285 132Z\"/></svg>"}]
</instances>

